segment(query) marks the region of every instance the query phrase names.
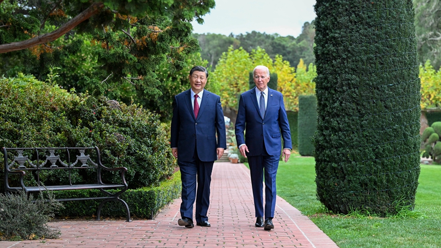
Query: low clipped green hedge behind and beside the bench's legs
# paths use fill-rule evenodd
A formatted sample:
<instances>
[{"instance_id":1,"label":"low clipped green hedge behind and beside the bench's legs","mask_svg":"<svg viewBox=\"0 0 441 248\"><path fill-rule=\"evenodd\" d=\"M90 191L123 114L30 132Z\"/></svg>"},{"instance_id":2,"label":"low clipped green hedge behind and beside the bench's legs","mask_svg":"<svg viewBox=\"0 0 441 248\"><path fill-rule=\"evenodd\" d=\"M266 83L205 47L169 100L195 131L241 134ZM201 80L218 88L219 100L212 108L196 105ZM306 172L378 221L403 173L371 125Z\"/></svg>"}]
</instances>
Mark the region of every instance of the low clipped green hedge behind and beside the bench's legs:
<instances>
[{"instance_id":1,"label":"low clipped green hedge behind and beside the bench's legs","mask_svg":"<svg viewBox=\"0 0 441 248\"><path fill-rule=\"evenodd\" d=\"M98 190L56 191L53 193L54 196L59 199L103 196ZM162 181L158 186L128 190L124 192L120 198L129 205L133 218L153 218L162 207L169 204L173 199L179 198L180 193L181 181L180 172L178 171L174 173L170 179ZM63 202L62 204L65 206L65 209L57 212L56 215L93 217L101 201L102 200ZM108 202L103 206L101 215L103 217L118 217L126 216L126 213L125 208L122 207L120 202Z\"/></svg>"}]
</instances>

